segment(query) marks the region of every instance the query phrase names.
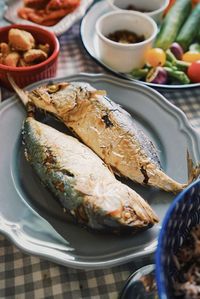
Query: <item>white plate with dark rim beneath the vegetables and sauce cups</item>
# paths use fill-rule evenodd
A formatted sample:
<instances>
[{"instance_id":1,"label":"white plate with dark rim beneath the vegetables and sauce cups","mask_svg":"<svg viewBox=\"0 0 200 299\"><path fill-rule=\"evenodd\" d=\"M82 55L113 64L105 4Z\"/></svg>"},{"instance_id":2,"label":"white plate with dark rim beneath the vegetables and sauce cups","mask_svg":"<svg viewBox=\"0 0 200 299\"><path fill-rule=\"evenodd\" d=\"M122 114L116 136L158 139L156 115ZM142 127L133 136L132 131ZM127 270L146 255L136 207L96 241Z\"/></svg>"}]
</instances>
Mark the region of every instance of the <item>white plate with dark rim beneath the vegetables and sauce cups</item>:
<instances>
[{"instance_id":1,"label":"white plate with dark rim beneath the vegetables and sauce cups","mask_svg":"<svg viewBox=\"0 0 200 299\"><path fill-rule=\"evenodd\" d=\"M94 4L89 11L87 12L87 14L84 16L82 23L81 23L81 38L82 38L82 42L83 45L85 47L85 49L87 50L87 52L90 54L90 56L92 58L94 58L98 63L100 63L102 66L104 66L107 70L111 71L112 73L114 73L115 75L121 77L121 78L125 78L128 79L130 81L134 81L137 82L138 80L134 80L130 75L125 74L125 73L119 73L115 70L113 70L112 68L110 68L108 65L106 65L103 61L101 61L101 59L99 58L99 54L98 54L98 48L96 47L97 43L96 43L96 34L95 34L95 24L97 19L109 12L111 10L111 8L109 7L108 1L107 0L103 0L100 1L96 4ZM191 84L174 84L174 85L167 85L167 84L155 84L155 83L147 83L147 82L143 82L140 81L141 83L151 86L151 87L156 87L156 88L167 88L167 89L176 89L176 88L191 88L191 87L198 87L200 86L200 83L191 83Z\"/></svg>"}]
</instances>

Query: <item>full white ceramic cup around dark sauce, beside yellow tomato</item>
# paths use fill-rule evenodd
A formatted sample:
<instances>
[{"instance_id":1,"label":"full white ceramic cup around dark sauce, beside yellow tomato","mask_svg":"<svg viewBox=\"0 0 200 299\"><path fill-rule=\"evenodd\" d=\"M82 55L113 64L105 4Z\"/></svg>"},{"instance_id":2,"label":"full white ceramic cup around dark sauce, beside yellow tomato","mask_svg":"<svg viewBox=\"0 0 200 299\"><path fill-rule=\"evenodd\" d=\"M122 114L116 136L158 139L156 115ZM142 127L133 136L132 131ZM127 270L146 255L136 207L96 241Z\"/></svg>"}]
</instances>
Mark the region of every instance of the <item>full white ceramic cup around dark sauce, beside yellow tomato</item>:
<instances>
[{"instance_id":1,"label":"full white ceramic cup around dark sauce, beside yellow tomato","mask_svg":"<svg viewBox=\"0 0 200 299\"><path fill-rule=\"evenodd\" d=\"M155 21L135 11L116 10L102 15L96 22L96 51L98 58L112 70L129 73L145 64L145 54L153 45L157 34ZM145 40L135 44L111 41L108 34L129 30L144 35Z\"/></svg>"}]
</instances>

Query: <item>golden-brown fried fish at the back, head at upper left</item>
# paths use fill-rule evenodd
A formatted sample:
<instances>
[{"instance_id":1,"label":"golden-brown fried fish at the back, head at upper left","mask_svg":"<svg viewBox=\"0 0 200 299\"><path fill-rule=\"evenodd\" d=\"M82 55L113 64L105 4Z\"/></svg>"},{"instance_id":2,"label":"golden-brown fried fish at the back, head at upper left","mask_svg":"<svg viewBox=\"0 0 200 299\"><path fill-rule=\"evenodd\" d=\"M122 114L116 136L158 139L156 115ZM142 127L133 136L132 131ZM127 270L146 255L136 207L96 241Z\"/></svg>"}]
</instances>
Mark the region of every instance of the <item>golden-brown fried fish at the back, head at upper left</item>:
<instances>
[{"instance_id":1,"label":"golden-brown fried fish at the back, head at upper left","mask_svg":"<svg viewBox=\"0 0 200 299\"><path fill-rule=\"evenodd\" d=\"M65 123L115 173L175 193L186 187L162 171L154 144L130 114L88 83L41 86L28 99Z\"/></svg>"}]
</instances>

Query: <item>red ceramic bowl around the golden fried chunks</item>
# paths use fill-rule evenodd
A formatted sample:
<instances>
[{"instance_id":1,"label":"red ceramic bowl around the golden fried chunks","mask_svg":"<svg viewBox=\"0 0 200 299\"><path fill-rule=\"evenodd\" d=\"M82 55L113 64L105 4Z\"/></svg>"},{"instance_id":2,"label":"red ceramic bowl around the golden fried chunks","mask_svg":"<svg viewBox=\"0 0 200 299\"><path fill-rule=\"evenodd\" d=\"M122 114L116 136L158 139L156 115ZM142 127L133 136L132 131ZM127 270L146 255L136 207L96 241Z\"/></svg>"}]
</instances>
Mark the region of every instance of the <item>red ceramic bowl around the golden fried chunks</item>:
<instances>
[{"instance_id":1,"label":"red ceramic bowl around the golden fried chunks","mask_svg":"<svg viewBox=\"0 0 200 299\"><path fill-rule=\"evenodd\" d=\"M10 67L0 64L0 83L7 88L11 88L7 79L7 73L12 76L20 87L42 79L54 77L57 71L57 60L60 48L58 39L54 33L37 26L16 24L0 28L0 42L8 41L8 32L11 28L18 28L30 32L35 38L36 43L48 43L50 46L50 55L45 61L28 67Z\"/></svg>"}]
</instances>

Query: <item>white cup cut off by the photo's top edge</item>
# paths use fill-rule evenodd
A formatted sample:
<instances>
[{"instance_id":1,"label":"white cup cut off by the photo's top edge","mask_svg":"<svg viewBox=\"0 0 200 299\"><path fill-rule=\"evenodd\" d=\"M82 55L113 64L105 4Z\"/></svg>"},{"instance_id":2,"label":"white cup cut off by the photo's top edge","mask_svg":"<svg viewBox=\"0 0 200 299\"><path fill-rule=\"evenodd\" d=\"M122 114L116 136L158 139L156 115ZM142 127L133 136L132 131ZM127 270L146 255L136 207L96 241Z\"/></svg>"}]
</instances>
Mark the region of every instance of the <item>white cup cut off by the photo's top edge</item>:
<instances>
[{"instance_id":1,"label":"white cup cut off by the photo's top edge","mask_svg":"<svg viewBox=\"0 0 200 299\"><path fill-rule=\"evenodd\" d=\"M164 10L169 4L169 0L107 0L109 6L113 9L126 10L128 5L134 5L138 9L149 10L144 12L146 15L154 19L156 23L160 23Z\"/></svg>"}]
</instances>

